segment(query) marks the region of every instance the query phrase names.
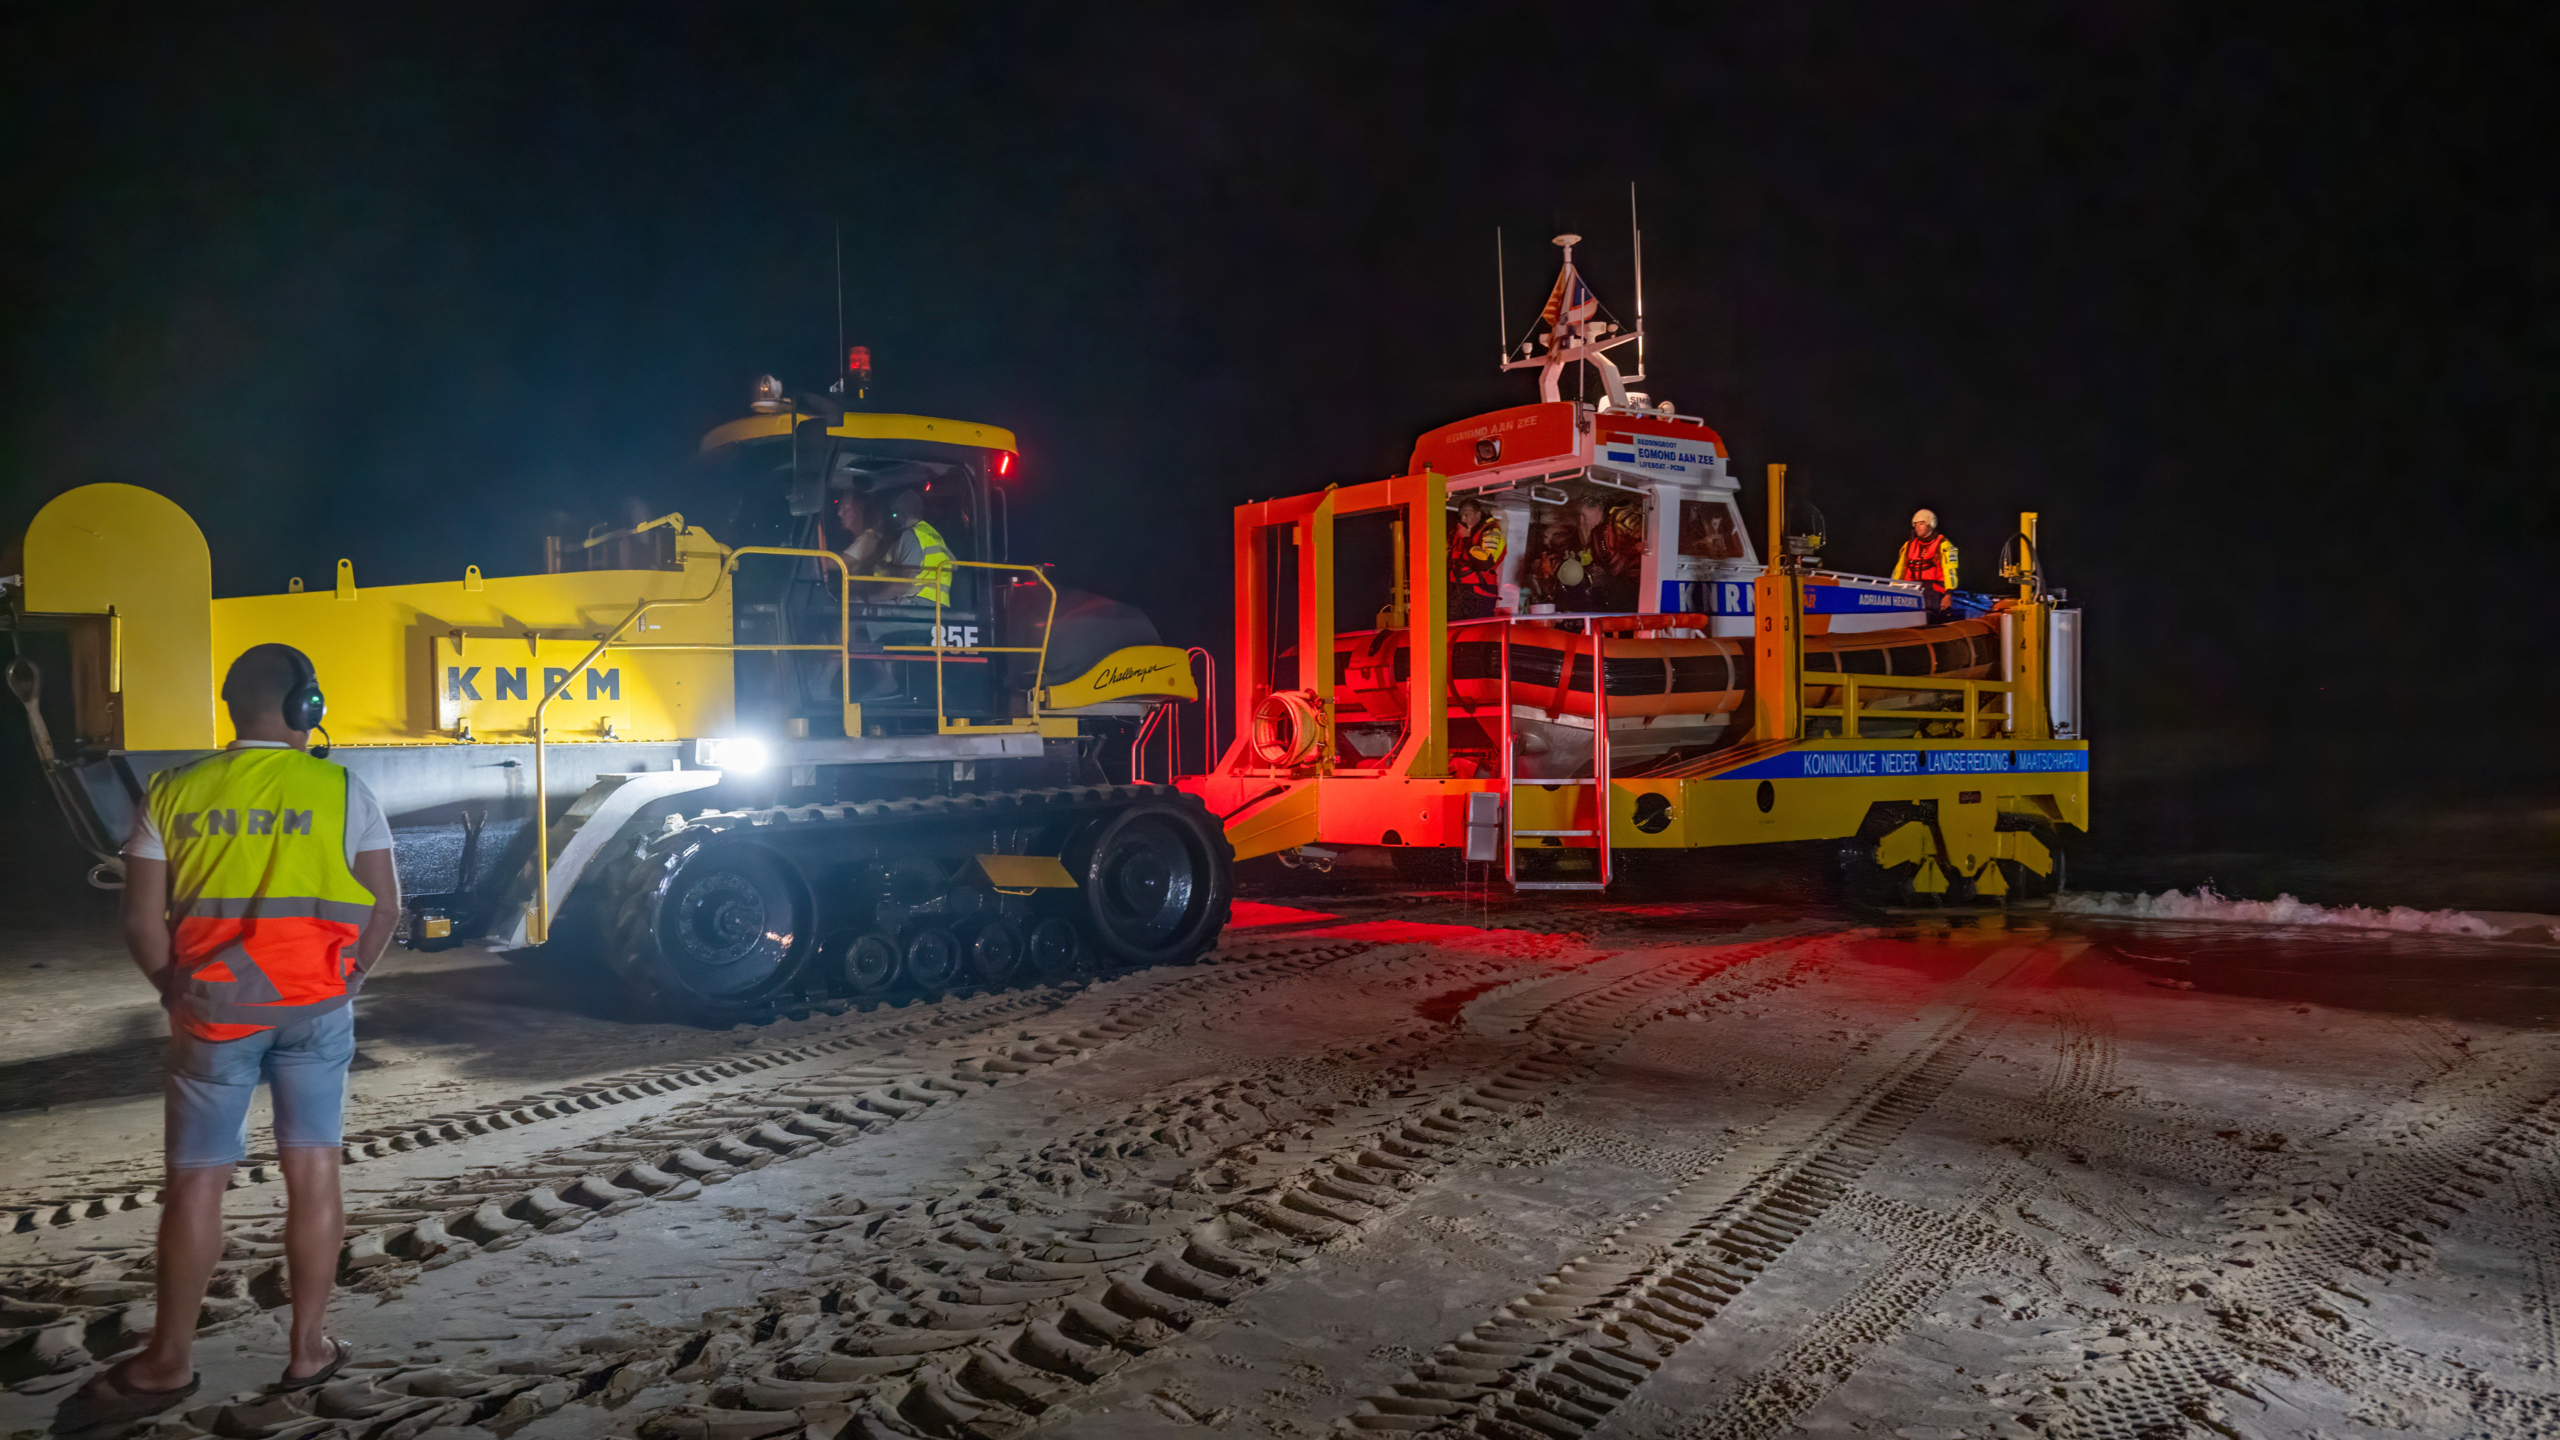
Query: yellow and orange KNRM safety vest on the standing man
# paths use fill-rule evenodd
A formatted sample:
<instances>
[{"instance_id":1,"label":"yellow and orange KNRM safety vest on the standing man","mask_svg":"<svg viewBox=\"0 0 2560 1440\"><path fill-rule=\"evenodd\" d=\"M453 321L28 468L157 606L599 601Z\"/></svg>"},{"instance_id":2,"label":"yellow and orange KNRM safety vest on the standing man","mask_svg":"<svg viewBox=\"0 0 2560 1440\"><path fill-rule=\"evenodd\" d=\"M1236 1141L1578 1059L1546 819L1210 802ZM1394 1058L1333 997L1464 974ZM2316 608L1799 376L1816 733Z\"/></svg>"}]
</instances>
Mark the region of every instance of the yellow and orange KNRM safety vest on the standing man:
<instances>
[{"instance_id":1,"label":"yellow and orange KNRM safety vest on the standing man","mask_svg":"<svg viewBox=\"0 0 2560 1440\"><path fill-rule=\"evenodd\" d=\"M169 851L169 1012L238 1040L338 1010L374 892L346 863L340 766L302 751L220 751L151 776Z\"/></svg>"}]
</instances>

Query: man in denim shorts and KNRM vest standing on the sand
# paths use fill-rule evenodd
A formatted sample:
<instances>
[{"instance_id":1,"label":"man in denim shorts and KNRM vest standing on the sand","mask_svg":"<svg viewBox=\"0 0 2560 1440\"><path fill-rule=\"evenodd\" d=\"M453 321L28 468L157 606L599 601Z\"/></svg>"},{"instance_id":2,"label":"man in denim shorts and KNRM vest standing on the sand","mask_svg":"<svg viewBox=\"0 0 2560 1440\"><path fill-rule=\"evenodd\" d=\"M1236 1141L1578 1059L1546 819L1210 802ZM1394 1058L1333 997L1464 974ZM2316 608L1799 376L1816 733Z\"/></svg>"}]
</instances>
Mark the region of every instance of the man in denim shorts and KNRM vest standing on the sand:
<instances>
[{"instance_id":1,"label":"man in denim shorts and KNRM vest standing on the sand","mask_svg":"<svg viewBox=\"0 0 2560 1440\"><path fill-rule=\"evenodd\" d=\"M195 1391L195 1320L259 1079L284 1166L292 1345L279 1384L317 1386L348 1358L323 1332L346 1240L348 1002L399 922L392 825L364 781L307 753L325 702L302 651L251 646L223 702L241 738L156 774L125 838L125 948L169 1010L159 1322L82 1389L84 1417L156 1414Z\"/></svg>"}]
</instances>

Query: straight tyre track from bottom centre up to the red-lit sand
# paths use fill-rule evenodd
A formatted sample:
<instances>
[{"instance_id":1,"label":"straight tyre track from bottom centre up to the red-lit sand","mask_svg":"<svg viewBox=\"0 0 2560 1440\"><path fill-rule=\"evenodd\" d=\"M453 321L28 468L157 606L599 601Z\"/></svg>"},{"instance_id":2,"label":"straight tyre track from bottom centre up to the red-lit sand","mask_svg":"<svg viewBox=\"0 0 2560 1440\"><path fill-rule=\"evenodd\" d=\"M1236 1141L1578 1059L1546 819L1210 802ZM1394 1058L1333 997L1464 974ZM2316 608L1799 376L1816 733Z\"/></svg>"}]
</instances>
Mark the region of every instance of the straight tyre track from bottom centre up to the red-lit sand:
<instances>
[{"instance_id":1,"label":"straight tyre track from bottom centre up to the red-lit sand","mask_svg":"<svg viewBox=\"0 0 2560 1440\"><path fill-rule=\"evenodd\" d=\"M1823 1217L1974 1061L1984 997L2053 953L2015 945L1943 986L1823 1089L1620 1225L1362 1409L1341 1432L1577 1440Z\"/></svg>"}]
</instances>

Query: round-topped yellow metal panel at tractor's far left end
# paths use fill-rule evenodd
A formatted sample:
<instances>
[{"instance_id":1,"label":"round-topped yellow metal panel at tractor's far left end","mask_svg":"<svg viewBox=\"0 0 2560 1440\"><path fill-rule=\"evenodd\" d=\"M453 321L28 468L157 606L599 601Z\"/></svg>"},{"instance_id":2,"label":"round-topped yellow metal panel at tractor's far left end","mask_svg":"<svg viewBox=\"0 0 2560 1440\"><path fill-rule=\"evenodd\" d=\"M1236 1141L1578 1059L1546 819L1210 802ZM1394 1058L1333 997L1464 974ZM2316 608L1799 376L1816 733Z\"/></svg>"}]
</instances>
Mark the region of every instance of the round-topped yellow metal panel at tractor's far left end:
<instances>
[{"instance_id":1,"label":"round-topped yellow metal panel at tractor's far left end","mask_svg":"<svg viewBox=\"0 0 2560 1440\"><path fill-rule=\"evenodd\" d=\"M128 751L215 746L212 553L169 497L82 484L26 528L26 607L108 615ZM238 651L233 651L238 653ZM230 653L220 656L228 666Z\"/></svg>"}]
</instances>

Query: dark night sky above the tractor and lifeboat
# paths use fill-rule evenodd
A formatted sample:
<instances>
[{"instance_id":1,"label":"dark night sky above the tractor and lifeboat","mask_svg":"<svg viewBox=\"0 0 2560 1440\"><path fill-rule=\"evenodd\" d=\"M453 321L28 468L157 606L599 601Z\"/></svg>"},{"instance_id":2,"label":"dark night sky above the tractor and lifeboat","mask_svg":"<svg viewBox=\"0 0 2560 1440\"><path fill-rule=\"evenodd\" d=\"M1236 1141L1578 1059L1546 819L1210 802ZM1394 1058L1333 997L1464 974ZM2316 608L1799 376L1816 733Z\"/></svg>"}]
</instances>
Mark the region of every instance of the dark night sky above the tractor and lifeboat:
<instances>
[{"instance_id":1,"label":"dark night sky above the tractor and lifeboat","mask_svg":"<svg viewBox=\"0 0 2560 1440\"><path fill-rule=\"evenodd\" d=\"M2437 10L20 15L0 533L125 479L218 592L530 566L827 379L842 223L883 405L1016 428L1016 553L1216 643L1226 507L1528 397L1492 231L1516 325L1556 228L1626 313L1636 182L1651 389L1843 566L2043 510L2122 776L2552 805L2560 46Z\"/></svg>"}]
</instances>

